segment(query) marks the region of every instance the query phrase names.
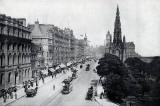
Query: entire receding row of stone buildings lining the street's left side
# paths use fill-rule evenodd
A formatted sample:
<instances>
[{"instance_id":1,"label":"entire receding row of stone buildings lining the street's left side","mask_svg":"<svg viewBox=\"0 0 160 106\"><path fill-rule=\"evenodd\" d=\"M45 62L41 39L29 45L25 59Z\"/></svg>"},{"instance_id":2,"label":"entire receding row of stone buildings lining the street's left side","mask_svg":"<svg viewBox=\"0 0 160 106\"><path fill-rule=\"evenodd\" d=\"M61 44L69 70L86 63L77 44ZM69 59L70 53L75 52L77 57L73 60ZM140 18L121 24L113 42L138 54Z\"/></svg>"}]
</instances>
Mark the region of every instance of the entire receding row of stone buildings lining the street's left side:
<instances>
[{"instance_id":1,"label":"entire receding row of stone buildings lining the street's left side","mask_svg":"<svg viewBox=\"0 0 160 106\"><path fill-rule=\"evenodd\" d=\"M85 58L87 37L76 39L69 28L26 25L25 18L0 14L0 89L18 86L38 70Z\"/></svg>"}]
</instances>

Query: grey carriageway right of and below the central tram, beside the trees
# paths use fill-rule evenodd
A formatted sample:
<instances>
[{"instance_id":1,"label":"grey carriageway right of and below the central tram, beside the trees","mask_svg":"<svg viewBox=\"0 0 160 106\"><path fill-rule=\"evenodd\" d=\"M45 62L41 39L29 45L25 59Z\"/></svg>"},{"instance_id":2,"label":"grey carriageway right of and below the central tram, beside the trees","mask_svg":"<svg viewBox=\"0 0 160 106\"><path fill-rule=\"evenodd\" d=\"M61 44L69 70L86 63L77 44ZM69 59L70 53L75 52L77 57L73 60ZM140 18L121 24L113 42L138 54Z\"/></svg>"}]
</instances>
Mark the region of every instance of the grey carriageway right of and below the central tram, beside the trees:
<instances>
[{"instance_id":1,"label":"grey carriageway right of and below the central tram, beside the trees","mask_svg":"<svg viewBox=\"0 0 160 106\"><path fill-rule=\"evenodd\" d=\"M73 81L73 91L69 94L59 94L47 106L101 106L98 102L85 100L91 80L98 76L92 70L95 64L91 65L90 71L81 70L79 77Z\"/></svg>"}]
</instances>

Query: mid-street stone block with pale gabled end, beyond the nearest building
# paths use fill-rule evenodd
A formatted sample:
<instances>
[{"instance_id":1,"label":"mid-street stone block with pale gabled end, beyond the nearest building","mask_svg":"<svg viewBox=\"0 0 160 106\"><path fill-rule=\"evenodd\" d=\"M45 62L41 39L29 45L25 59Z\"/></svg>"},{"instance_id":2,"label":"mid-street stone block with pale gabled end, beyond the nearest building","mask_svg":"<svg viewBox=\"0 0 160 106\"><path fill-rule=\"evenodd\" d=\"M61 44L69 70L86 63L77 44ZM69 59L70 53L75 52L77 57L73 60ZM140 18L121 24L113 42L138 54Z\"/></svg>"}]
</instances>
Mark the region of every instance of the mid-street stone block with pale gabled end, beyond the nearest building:
<instances>
[{"instance_id":1,"label":"mid-street stone block with pale gabled end, beyond the nearest building","mask_svg":"<svg viewBox=\"0 0 160 106\"><path fill-rule=\"evenodd\" d=\"M74 60L75 37L71 29L39 24L38 21L29 27L33 44L42 46L45 67Z\"/></svg>"}]
</instances>

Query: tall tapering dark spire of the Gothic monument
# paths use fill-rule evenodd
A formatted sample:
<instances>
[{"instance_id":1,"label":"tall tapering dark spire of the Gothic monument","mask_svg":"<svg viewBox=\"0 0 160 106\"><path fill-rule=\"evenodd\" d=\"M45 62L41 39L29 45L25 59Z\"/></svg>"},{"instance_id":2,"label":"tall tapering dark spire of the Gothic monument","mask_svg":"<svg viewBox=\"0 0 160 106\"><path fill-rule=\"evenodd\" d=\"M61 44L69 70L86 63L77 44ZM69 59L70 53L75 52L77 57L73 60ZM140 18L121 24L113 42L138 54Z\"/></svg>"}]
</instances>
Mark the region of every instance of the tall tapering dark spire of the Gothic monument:
<instances>
[{"instance_id":1,"label":"tall tapering dark spire of the Gothic monument","mask_svg":"<svg viewBox=\"0 0 160 106\"><path fill-rule=\"evenodd\" d=\"M119 13L119 7L117 5L117 12L116 12L116 19L114 23L114 38L113 43L115 45L119 45L122 43L122 37L121 37L121 22L120 22L120 13Z\"/></svg>"}]
</instances>

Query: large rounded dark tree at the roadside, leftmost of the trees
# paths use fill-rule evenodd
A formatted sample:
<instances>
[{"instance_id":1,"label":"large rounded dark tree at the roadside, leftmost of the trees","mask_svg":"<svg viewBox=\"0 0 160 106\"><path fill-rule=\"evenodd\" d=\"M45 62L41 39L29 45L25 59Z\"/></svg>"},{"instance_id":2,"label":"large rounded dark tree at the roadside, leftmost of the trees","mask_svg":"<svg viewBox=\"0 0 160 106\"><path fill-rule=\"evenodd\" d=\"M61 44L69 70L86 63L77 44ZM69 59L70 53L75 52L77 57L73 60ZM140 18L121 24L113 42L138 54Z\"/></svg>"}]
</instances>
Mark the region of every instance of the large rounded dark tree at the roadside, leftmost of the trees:
<instances>
[{"instance_id":1,"label":"large rounded dark tree at the roadside, leftmost of the trees","mask_svg":"<svg viewBox=\"0 0 160 106\"><path fill-rule=\"evenodd\" d=\"M122 61L115 55L105 54L99 60L97 73L102 77L106 77L105 94L107 97L116 103L121 103L126 97L127 90L124 86L124 77L127 75L127 70Z\"/></svg>"}]
</instances>

